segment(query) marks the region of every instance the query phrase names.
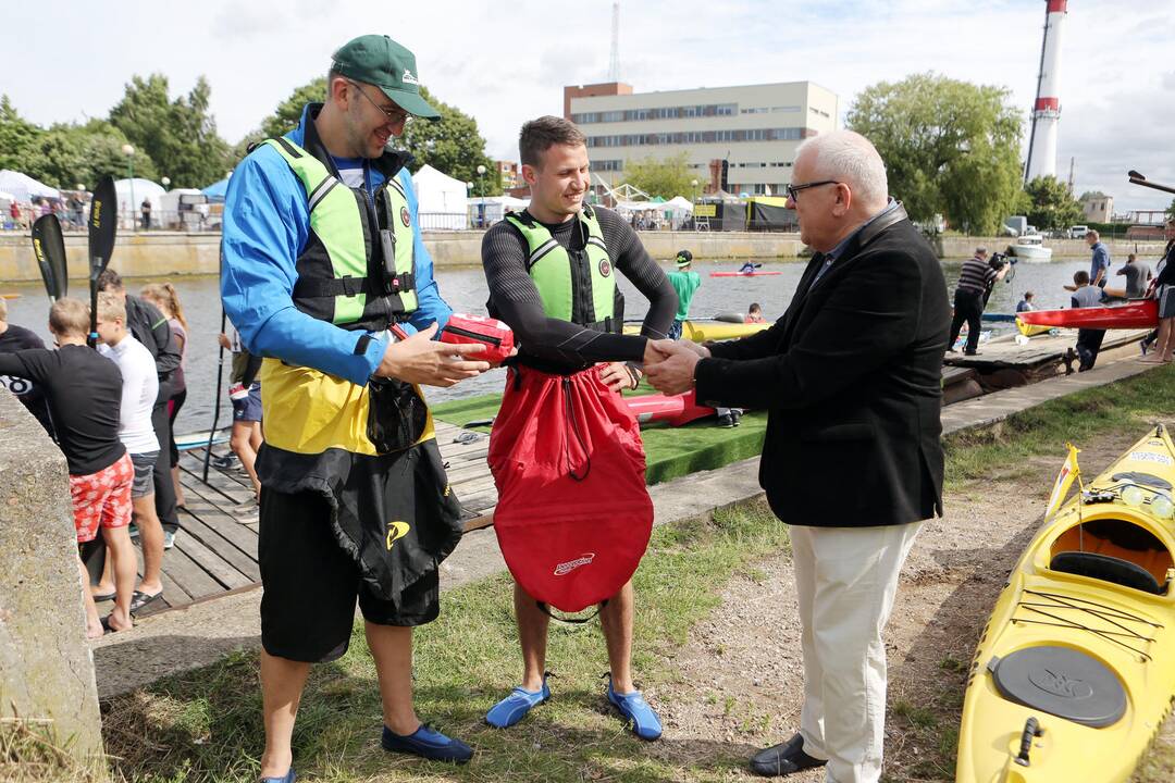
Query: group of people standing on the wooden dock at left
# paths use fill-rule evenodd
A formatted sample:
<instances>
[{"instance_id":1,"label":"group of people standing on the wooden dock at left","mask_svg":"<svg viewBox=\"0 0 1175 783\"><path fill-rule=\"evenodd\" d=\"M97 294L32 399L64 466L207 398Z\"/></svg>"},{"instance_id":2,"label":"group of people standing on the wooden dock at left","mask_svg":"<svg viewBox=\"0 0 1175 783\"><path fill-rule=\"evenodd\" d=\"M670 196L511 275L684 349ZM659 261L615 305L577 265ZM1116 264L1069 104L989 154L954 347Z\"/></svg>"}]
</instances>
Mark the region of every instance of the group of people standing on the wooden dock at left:
<instances>
[{"instance_id":1,"label":"group of people standing on the wooden dock at left","mask_svg":"<svg viewBox=\"0 0 1175 783\"><path fill-rule=\"evenodd\" d=\"M40 421L68 465L92 637L133 627L134 615L162 599L164 552L175 546L179 511L186 502L173 432L187 398L183 305L170 283L127 293L113 269L102 272L98 286L96 350L87 346L87 303L53 303L48 329L58 350L47 350L31 329L8 323L7 304L0 299L0 385ZM244 372L249 362L243 351L241 356L244 360L234 366ZM234 378L239 380L239 373ZM260 445L256 391L254 384L251 403L233 400L231 446L250 475ZM256 505L246 507L242 519L256 513ZM135 540L143 560L137 580ZM103 601L113 603L100 617L98 605Z\"/></svg>"}]
</instances>

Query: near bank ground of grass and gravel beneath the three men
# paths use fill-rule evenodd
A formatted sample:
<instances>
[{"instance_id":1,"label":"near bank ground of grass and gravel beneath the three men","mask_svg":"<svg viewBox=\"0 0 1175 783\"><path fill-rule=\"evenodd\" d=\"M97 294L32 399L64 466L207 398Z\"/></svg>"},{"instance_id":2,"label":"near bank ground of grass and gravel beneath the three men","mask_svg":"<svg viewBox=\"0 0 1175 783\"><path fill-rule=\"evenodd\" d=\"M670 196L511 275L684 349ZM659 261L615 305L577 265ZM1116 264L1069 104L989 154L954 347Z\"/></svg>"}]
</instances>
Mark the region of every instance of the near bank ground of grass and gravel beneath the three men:
<instances>
[{"instance_id":1,"label":"near bank ground of grass and gravel beneath the three men","mask_svg":"<svg viewBox=\"0 0 1175 783\"><path fill-rule=\"evenodd\" d=\"M1065 440L1082 446L1087 470L1100 470L1155 420L1175 420L1173 382L1170 367L1152 370L947 439L947 517L919 538L888 633L888 779L952 779L966 668L959 662L969 659L1002 574L1040 521ZM744 472L730 478L738 482ZM683 481L677 494L693 497L694 508L709 504L723 485L720 474L712 478L719 481L713 488ZM678 508L689 507L680 500ZM662 501L654 501L660 518ZM1021 513L1009 518L1008 508ZM786 529L761 502L703 517L679 511L671 519L678 521L657 529L637 574L634 663L665 718L660 742L632 738L603 702L596 676L606 663L598 632L563 626L551 640L559 674L552 681L555 701L508 733L485 728L484 710L517 676L517 654L505 610L509 580L481 571L481 578L459 580L463 586L444 593L443 620L419 632L416 656L421 714L470 740L479 750L474 763L429 767L380 750L374 670L356 626L351 652L311 676L295 734L300 774L343 782L750 779L744 764L751 749L786 737L798 708ZM468 541L455 556L470 546L476 548ZM679 579L683 573L690 579ZM216 617L214 630L251 648L253 633L248 640L240 630L233 634L235 612L227 610L228 601L243 605L244 598L201 610ZM243 609L255 623L256 607ZM143 626L175 623L173 633L184 634L183 649L193 653L199 644L192 634L202 626L197 614L193 607ZM168 640L181 641L157 636L156 643ZM116 777L253 779L261 748L256 667L254 652L239 652L109 700L105 734L108 752L121 757ZM145 736L152 742L145 744ZM1137 781L1171 779L1170 741L1168 725Z\"/></svg>"}]
</instances>

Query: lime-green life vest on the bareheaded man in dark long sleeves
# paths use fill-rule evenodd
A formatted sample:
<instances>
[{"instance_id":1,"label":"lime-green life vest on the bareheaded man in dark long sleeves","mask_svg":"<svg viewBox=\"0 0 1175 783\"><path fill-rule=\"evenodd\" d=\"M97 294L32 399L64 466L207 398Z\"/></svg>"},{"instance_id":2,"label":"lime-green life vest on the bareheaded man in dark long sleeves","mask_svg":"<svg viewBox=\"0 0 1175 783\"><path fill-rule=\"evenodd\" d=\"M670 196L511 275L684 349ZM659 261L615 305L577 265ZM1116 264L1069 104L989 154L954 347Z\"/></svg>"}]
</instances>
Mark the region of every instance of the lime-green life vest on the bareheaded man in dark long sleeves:
<instances>
[{"instance_id":1,"label":"lime-green life vest on the bareheaded man in dark long sleeves","mask_svg":"<svg viewBox=\"0 0 1175 783\"><path fill-rule=\"evenodd\" d=\"M526 271L538 289L548 318L599 331L620 331L620 324L615 323L612 259L591 207L584 204L577 217L576 229L586 236L584 249L570 252L526 212L508 212L505 220L526 239Z\"/></svg>"}]
</instances>

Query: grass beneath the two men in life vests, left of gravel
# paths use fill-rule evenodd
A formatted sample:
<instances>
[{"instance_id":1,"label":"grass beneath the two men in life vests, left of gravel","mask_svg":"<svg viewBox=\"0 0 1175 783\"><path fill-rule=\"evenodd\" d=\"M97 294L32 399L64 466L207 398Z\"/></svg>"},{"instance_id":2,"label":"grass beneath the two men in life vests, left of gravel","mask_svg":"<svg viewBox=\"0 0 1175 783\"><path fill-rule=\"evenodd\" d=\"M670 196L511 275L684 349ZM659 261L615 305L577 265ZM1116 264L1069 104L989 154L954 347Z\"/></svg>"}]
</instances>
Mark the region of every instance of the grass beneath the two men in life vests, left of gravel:
<instances>
[{"instance_id":1,"label":"grass beneath the two men in life vests, left of gravel","mask_svg":"<svg viewBox=\"0 0 1175 783\"><path fill-rule=\"evenodd\" d=\"M633 668L645 689L672 677L676 650L720 601L734 572L785 551L785 527L761 502L659 527L636 576ZM689 579L682 579L689 575ZM521 666L505 575L442 598L442 620L416 636L417 710L478 748L465 768L392 757L376 744L376 675L361 626L341 660L315 667L294 736L300 776L327 781L671 779L607 708L607 670L595 626L552 625L549 661L557 679L549 704L509 733L489 729L485 711ZM228 656L213 667L160 681L106 704L107 750L116 774L142 783L249 781L261 752L257 660ZM145 743L143 737L149 737Z\"/></svg>"}]
</instances>

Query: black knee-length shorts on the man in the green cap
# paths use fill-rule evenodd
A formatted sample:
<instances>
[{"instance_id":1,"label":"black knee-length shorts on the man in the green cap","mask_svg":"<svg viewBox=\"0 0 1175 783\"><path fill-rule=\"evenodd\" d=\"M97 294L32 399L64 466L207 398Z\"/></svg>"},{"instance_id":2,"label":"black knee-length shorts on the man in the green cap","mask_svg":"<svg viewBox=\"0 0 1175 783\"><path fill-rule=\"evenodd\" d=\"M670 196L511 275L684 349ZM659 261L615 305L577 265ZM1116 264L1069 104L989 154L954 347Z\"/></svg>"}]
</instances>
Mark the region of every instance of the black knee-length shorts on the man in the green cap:
<instances>
[{"instance_id":1,"label":"black knee-length shorts on the man in the green cap","mask_svg":"<svg viewBox=\"0 0 1175 783\"><path fill-rule=\"evenodd\" d=\"M261 487L257 540L261 566L261 644L291 661L334 661L347 653L358 598L363 619L377 626L422 626L441 613L439 574L432 571L397 600L376 598L358 566L335 540L330 506L314 492Z\"/></svg>"}]
</instances>

